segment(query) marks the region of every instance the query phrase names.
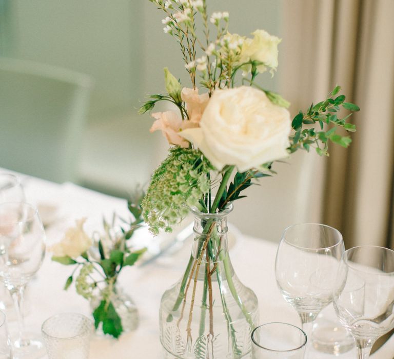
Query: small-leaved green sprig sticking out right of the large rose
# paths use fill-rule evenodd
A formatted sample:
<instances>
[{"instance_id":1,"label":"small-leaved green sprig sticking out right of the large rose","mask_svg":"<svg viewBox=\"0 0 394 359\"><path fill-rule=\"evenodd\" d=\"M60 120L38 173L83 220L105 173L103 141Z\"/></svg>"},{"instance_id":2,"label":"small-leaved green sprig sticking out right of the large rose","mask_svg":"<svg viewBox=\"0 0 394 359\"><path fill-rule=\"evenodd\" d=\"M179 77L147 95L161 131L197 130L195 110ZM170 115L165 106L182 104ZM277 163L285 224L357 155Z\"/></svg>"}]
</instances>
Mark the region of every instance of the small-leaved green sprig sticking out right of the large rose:
<instances>
[{"instance_id":1,"label":"small-leaved green sprig sticking out right of the large rose","mask_svg":"<svg viewBox=\"0 0 394 359\"><path fill-rule=\"evenodd\" d=\"M356 125L347 123L346 120L352 114L340 118L339 111L341 107L351 112L359 111L360 108L349 102L345 102L345 95L337 94L341 87L336 86L324 101L316 105L310 105L306 112L300 111L291 123L294 129L293 135L290 136L291 145L288 148L290 153L298 149L304 149L309 152L311 146L316 148L316 152L323 156L328 156L328 143L332 142L342 147L348 147L351 143L349 136L342 136L337 132L339 128L343 128L347 132L356 131ZM318 125L315 127L304 127L304 125ZM328 125L325 130L324 126Z\"/></svg>"}]
</instances>

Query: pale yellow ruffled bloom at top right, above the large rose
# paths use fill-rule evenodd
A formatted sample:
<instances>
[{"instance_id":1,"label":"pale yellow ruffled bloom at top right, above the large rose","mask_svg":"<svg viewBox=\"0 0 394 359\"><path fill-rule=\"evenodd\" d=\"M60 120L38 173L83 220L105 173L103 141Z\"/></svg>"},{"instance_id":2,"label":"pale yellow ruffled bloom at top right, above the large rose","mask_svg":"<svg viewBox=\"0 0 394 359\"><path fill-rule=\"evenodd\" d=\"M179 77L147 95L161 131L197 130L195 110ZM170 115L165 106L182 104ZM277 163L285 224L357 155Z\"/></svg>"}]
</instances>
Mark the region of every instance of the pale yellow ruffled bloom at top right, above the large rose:
<instances>
[{"instance_id":1,"label":"pale yellow ruffled bloom at top right, above the large rose","mask_svg":"<svg viewBox=\"0 0 394 359\"><path fill-rule=\"evenodd\" d=\"M270 35L267 31L256 30L252 32L253 39L244 41L241 51L240 63L248 61L261 61L264 65L258 66L259 72L264 72L267 67L276 70L278 67L278 45L282 41L277 36ZM250 71L251 65L245 68Z\"/></svg>"}]
</instances>

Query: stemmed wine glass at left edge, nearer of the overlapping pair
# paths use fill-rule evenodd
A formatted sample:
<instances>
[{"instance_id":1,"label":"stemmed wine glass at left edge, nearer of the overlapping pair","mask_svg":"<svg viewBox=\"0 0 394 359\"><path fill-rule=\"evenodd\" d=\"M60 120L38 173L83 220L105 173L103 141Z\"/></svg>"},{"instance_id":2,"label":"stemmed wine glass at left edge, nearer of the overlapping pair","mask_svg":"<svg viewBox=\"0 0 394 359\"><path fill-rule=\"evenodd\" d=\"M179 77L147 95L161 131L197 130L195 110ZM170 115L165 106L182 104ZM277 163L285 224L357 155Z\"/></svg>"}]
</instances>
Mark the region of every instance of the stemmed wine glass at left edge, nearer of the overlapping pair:
<instances>
[{"instance_id":1,"label":"stemmed wine glass at left edge, nearer of the overlapping pair","mask_svg":"<svg viewBox=\"0 0 394 359\"><path fill-rule=\"evenodd\" d=\"M24 202L0 204L0 279L10 291L17 314L18 337L15 357L23 358L42 350L37 336L24 332L23 294L45 255L45 232L35 207Z\"/></svg>"}]
</instances>

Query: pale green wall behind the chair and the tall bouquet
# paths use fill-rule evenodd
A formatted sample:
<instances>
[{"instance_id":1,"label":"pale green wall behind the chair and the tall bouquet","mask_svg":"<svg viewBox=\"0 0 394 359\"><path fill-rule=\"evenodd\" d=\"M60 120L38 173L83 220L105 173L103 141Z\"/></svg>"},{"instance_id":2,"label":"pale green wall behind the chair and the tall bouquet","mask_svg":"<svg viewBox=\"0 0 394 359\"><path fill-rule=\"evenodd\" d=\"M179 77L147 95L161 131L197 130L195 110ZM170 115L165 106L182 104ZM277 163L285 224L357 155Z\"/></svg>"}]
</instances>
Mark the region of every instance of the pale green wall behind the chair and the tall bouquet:
<instances>
[{"instance_id":1,"label":"pale green wall behind the chair and the tall bouquet","mask_svg":"<svg viewBox=\"0 0 394 359\"><path fill-rule=\"evenodd\" d=\"M145 93L162 91L165 66L189 85L179 47L163 33L164 14L148 0L0 1L8 4L0 24L0 54L91 75L91 121L110 119L137 107ZM279 0L211 0L208 5L211 12L230 12L231 32L280 32ZM264 78L269 88L276 87L275 79Z\"/></svg>"}]
</instances>

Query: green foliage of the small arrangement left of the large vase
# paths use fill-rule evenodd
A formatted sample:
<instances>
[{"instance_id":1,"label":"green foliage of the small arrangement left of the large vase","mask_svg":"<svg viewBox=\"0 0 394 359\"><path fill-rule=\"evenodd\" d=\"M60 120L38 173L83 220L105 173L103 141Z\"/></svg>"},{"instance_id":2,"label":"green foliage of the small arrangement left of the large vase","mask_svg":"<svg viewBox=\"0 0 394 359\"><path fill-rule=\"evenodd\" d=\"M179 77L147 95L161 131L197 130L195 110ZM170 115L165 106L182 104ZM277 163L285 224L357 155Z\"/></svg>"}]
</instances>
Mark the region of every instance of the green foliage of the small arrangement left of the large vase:
<instances>
[{"instance_id":1,"label":"green foliage of the small arrangement left of the large vase","mask_svg":"<svg viewBox=\"0 0 394 359\"><path fill-rule=\"evenodd\" d=\"M136 189L131 196L128 202L128 209L132 214L130 220L124 220L115 214L111 222L107 222L104 218L104 232L95 233L98 238L93 237L96 247L81 253L78 260L67 255L52 257L53 261L63 265L75 265L74 271L67 278L64 290L75 282L77 294L89 301L92 298L99 298L101 303L93 313L95 327L102 323L104 333L116 338L122 333L123 327L121 317L116 313L110 298L122 268L134 265L146 251L146 248L133 250L129 246L129 239L143 222L141 204L144 195L142 190ZM121 231L116 220L122 223Z\"/></svg>"}]
</instances>

